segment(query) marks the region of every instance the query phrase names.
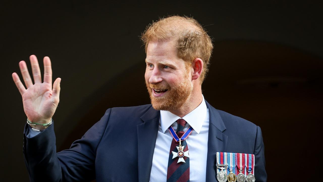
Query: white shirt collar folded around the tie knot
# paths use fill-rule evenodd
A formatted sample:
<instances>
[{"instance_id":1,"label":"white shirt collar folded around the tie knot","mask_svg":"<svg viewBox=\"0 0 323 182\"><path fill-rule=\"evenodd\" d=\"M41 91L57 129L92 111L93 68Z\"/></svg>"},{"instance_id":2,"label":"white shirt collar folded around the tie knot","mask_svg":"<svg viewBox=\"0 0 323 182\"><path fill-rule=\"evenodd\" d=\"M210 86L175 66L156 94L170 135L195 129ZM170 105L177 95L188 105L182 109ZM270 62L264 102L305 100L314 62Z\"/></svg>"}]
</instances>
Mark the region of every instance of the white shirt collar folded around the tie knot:
<instances>
[{"instance_id":1,"label":"white shirt collar folded around the tie knot","mask_svg":"<svg viewBox=\"0 0 323 182\"><path fill-rule=\"evenodd\" d=\"M206 113L207 107L205 104L204 96L202 95L203 100L201 104L195 108L190 113L186 114L182 119L184 119L192 128L197 132L200 133ZM161 130L165 133L165 131L180 117L176 116L175 114L161 110L160 115L160 122L161 122Z\"/></svg>"}]
</instances>

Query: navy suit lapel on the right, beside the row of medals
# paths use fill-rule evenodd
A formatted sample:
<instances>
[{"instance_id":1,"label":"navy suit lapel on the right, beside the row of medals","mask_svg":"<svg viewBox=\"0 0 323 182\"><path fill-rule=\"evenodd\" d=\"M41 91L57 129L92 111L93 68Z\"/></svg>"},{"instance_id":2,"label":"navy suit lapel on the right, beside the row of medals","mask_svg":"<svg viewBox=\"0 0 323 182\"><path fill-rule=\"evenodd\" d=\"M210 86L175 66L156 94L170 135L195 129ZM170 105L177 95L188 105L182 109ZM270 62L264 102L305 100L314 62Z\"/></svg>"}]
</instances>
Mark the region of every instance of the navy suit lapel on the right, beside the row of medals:
<instances>
[{"instance_id":1,"label":"navy suit lapel on the right, beside the row of medals","mask_svg":"<svg viewBox=\"0 0 323 182\"><path fill-rule=\"evenodd\" d=\"M223 133L226 128L219 112L208 102L205 101L205 103L210 114L206 182L214 182L216 181L216 152L224 152L226 150L228 136Z\"/></svg>"}]
</instances>

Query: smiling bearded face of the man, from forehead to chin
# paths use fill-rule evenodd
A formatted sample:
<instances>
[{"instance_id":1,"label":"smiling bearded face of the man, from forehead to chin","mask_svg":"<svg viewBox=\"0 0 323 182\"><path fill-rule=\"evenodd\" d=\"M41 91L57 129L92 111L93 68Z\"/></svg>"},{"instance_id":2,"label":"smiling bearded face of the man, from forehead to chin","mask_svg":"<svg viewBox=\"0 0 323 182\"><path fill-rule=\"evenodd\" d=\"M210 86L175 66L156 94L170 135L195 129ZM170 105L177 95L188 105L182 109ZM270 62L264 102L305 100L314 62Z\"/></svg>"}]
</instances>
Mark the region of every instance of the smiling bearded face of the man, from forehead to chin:
<instances>
[{"instance_id":1,"label":"smiling bearded face of the man, from forehead to chin","mask_svg":"<svg viewBox=\"0 0 323 182\"><path fill-rule=\"evenodd\" d=\"M172 40L149 42L145 80L156 110L176 110L191 96L192 75Z\"/></svg>"}]
</instances>

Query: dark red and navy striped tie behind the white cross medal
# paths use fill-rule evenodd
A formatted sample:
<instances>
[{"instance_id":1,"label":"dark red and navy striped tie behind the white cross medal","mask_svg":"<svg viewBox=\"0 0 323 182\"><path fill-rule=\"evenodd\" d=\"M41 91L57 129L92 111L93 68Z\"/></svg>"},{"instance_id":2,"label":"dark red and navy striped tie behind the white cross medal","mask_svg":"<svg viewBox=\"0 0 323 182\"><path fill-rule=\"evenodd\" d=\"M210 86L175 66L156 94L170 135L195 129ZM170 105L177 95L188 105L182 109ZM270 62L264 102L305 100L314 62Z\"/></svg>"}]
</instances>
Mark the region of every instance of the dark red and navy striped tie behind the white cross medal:
<instances>
[{"instance_id":1,"label":"dark red and navy striped tie behind the white cross medal","mask_svg":"<svg viewBox=\"0 0 323 182\"><path fill-rule=\"evenodd\" d=\"M186 125L186 121L184 119L177 120L177 136L179 138L184 134L184 127ZM186 141L181 142L184 147L184 152L188 151L188 146ZM190 181L190 158L184 157L185 163L180 162L177 163L178 157L172 159L173 154L172 151L178 152L176 146L179 145L179 142L176 142L174 139L172 140L171 149L169 152L168 158L168 168L167 168L167 182L188 182Z\"/></svg>"}]
</instances>

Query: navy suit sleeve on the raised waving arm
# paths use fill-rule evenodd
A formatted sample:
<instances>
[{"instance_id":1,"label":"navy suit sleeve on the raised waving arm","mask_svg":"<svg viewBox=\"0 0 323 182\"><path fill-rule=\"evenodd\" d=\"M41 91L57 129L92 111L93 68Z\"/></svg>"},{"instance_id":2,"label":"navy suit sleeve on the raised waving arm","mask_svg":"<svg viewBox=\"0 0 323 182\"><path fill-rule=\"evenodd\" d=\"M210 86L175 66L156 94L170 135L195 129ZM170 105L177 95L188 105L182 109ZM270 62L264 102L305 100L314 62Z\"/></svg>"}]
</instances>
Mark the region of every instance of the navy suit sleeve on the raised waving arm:
<instances>
[{"instance_id":1,"label":"navy suit sleeve on the raised waving arm","mask_svg":"<svg viewBox=\"0 0 323 182\"><path fill-rule=\"evenodd\" d=\"M91 181L95 179L96 149L106 130L111 109L70 149L56 153L54 123L38 135L27 138L24 131L23 153L32 182Z\"/></svg>"}]
</instances>

